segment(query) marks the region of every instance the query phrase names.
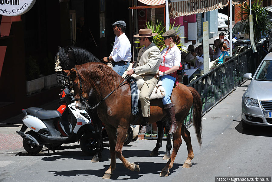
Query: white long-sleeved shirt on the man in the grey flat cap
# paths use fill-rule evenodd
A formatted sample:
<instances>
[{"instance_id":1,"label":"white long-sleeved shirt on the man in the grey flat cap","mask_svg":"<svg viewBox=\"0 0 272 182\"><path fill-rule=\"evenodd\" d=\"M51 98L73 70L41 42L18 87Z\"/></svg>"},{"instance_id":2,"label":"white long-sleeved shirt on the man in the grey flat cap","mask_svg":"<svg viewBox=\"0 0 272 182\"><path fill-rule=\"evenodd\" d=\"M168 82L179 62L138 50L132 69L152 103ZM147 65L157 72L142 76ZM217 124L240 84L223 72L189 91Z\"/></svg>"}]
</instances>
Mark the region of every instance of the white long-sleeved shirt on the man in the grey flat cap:
<instances>
[{"instance_id":1,"label":"white long-sleeved shirt on the man in the grey flat cap","mask_svg":"<svg viewBox=\"0 0 272 182\"><path fill-rule=\"evenodd\" d=\"M131 44L125 33L119 37L115 36L112 52L110 53L114 62L131 60Z\"/></svg>"}]
</instances>

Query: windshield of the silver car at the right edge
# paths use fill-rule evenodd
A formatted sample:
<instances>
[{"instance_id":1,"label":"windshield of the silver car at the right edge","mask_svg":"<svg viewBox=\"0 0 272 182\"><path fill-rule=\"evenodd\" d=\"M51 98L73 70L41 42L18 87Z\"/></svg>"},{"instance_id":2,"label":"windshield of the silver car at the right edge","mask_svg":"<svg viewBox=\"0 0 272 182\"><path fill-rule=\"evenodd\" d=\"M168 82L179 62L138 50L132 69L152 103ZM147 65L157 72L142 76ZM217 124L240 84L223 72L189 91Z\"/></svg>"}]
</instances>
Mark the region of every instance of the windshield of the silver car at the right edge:
<instances>
[{"instance_id":1,"label":"windshield of the silver car at the right edge","mask_svg":"<svg viewBox=\"0 0 272 182\"><path fill-rule=\"evenodd\" d=\"M265 60L262 63L255 80L272 81L272 60Z\"/></svg>"}]
</instances>

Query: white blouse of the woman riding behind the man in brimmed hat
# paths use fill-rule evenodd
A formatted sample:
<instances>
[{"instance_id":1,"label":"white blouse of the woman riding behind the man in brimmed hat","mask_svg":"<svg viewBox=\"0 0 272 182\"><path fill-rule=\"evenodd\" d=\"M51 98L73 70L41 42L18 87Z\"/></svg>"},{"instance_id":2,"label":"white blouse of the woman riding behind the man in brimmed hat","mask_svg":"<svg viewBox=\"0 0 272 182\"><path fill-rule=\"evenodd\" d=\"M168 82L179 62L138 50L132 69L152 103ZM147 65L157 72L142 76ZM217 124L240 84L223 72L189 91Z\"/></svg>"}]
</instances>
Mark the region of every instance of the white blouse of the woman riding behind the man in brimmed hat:
<instances>
[{"instance_id":1,"label":"white blouse of the woman riding behind the man in brimmed hat","mask_svg":"<svg viewBox=\"0 0 272 182\"><path fill-rule=\"evenodd\" d=\"M161 52L161 64L162 66L172 68L173 66L179 66L181 62L181 51L175 44L174 47L171 49L168 49L169 47L166 47Z\"/></svg>"}]
</instances>

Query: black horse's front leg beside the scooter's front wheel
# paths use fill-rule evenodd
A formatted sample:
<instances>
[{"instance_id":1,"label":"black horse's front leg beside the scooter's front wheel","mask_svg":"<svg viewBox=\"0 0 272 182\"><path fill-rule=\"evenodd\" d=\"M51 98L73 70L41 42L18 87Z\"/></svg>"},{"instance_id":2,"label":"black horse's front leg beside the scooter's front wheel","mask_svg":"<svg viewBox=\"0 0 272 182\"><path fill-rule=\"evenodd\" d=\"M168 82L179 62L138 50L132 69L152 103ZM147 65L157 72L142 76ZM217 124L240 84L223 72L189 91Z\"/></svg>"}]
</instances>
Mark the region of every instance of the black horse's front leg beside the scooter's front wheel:
<instances>
[{"instance_id":1,"label":"black horse's front leg beside the scooter's front wheel","mask_svg":"<svg viewBox=\"0 0 272 182\"><path fill-rule=\"evenodd\" d=\"M97 117L97 119L99 119ZM98 121L98 120L97 120ZM99 162L102 158L101 152L103 151L103 141L102 141L102 122L99 119L99 122L97 122L96 126L96 136L97 136L97 152L93 156L91 162Z\"/></svg>"}]
</instances>

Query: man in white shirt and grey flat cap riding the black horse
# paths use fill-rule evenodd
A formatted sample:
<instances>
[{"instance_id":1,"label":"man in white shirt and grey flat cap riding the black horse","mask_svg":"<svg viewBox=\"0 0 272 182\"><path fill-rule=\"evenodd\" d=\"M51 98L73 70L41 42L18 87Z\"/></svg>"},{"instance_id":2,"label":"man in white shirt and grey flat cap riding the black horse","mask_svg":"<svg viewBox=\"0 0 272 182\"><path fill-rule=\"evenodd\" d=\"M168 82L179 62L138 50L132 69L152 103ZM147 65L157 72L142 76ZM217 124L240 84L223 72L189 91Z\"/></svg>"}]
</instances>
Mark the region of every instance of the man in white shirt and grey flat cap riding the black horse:
<instances>
[{"instance_id":1,"label":"man in white shirt and grey flat cap riding the black horse","mask_svg":"<svg viewBox=\"0 0 272 182\"><path fill-rule=\"evenodd\" d=\"M116 21L112 24L115 41L109 57L104 57L103 61L113 63L113 70L120 76L128 69L131 60L131 44L125 35L126 23Z\"/></svg>"}]
</instances>

